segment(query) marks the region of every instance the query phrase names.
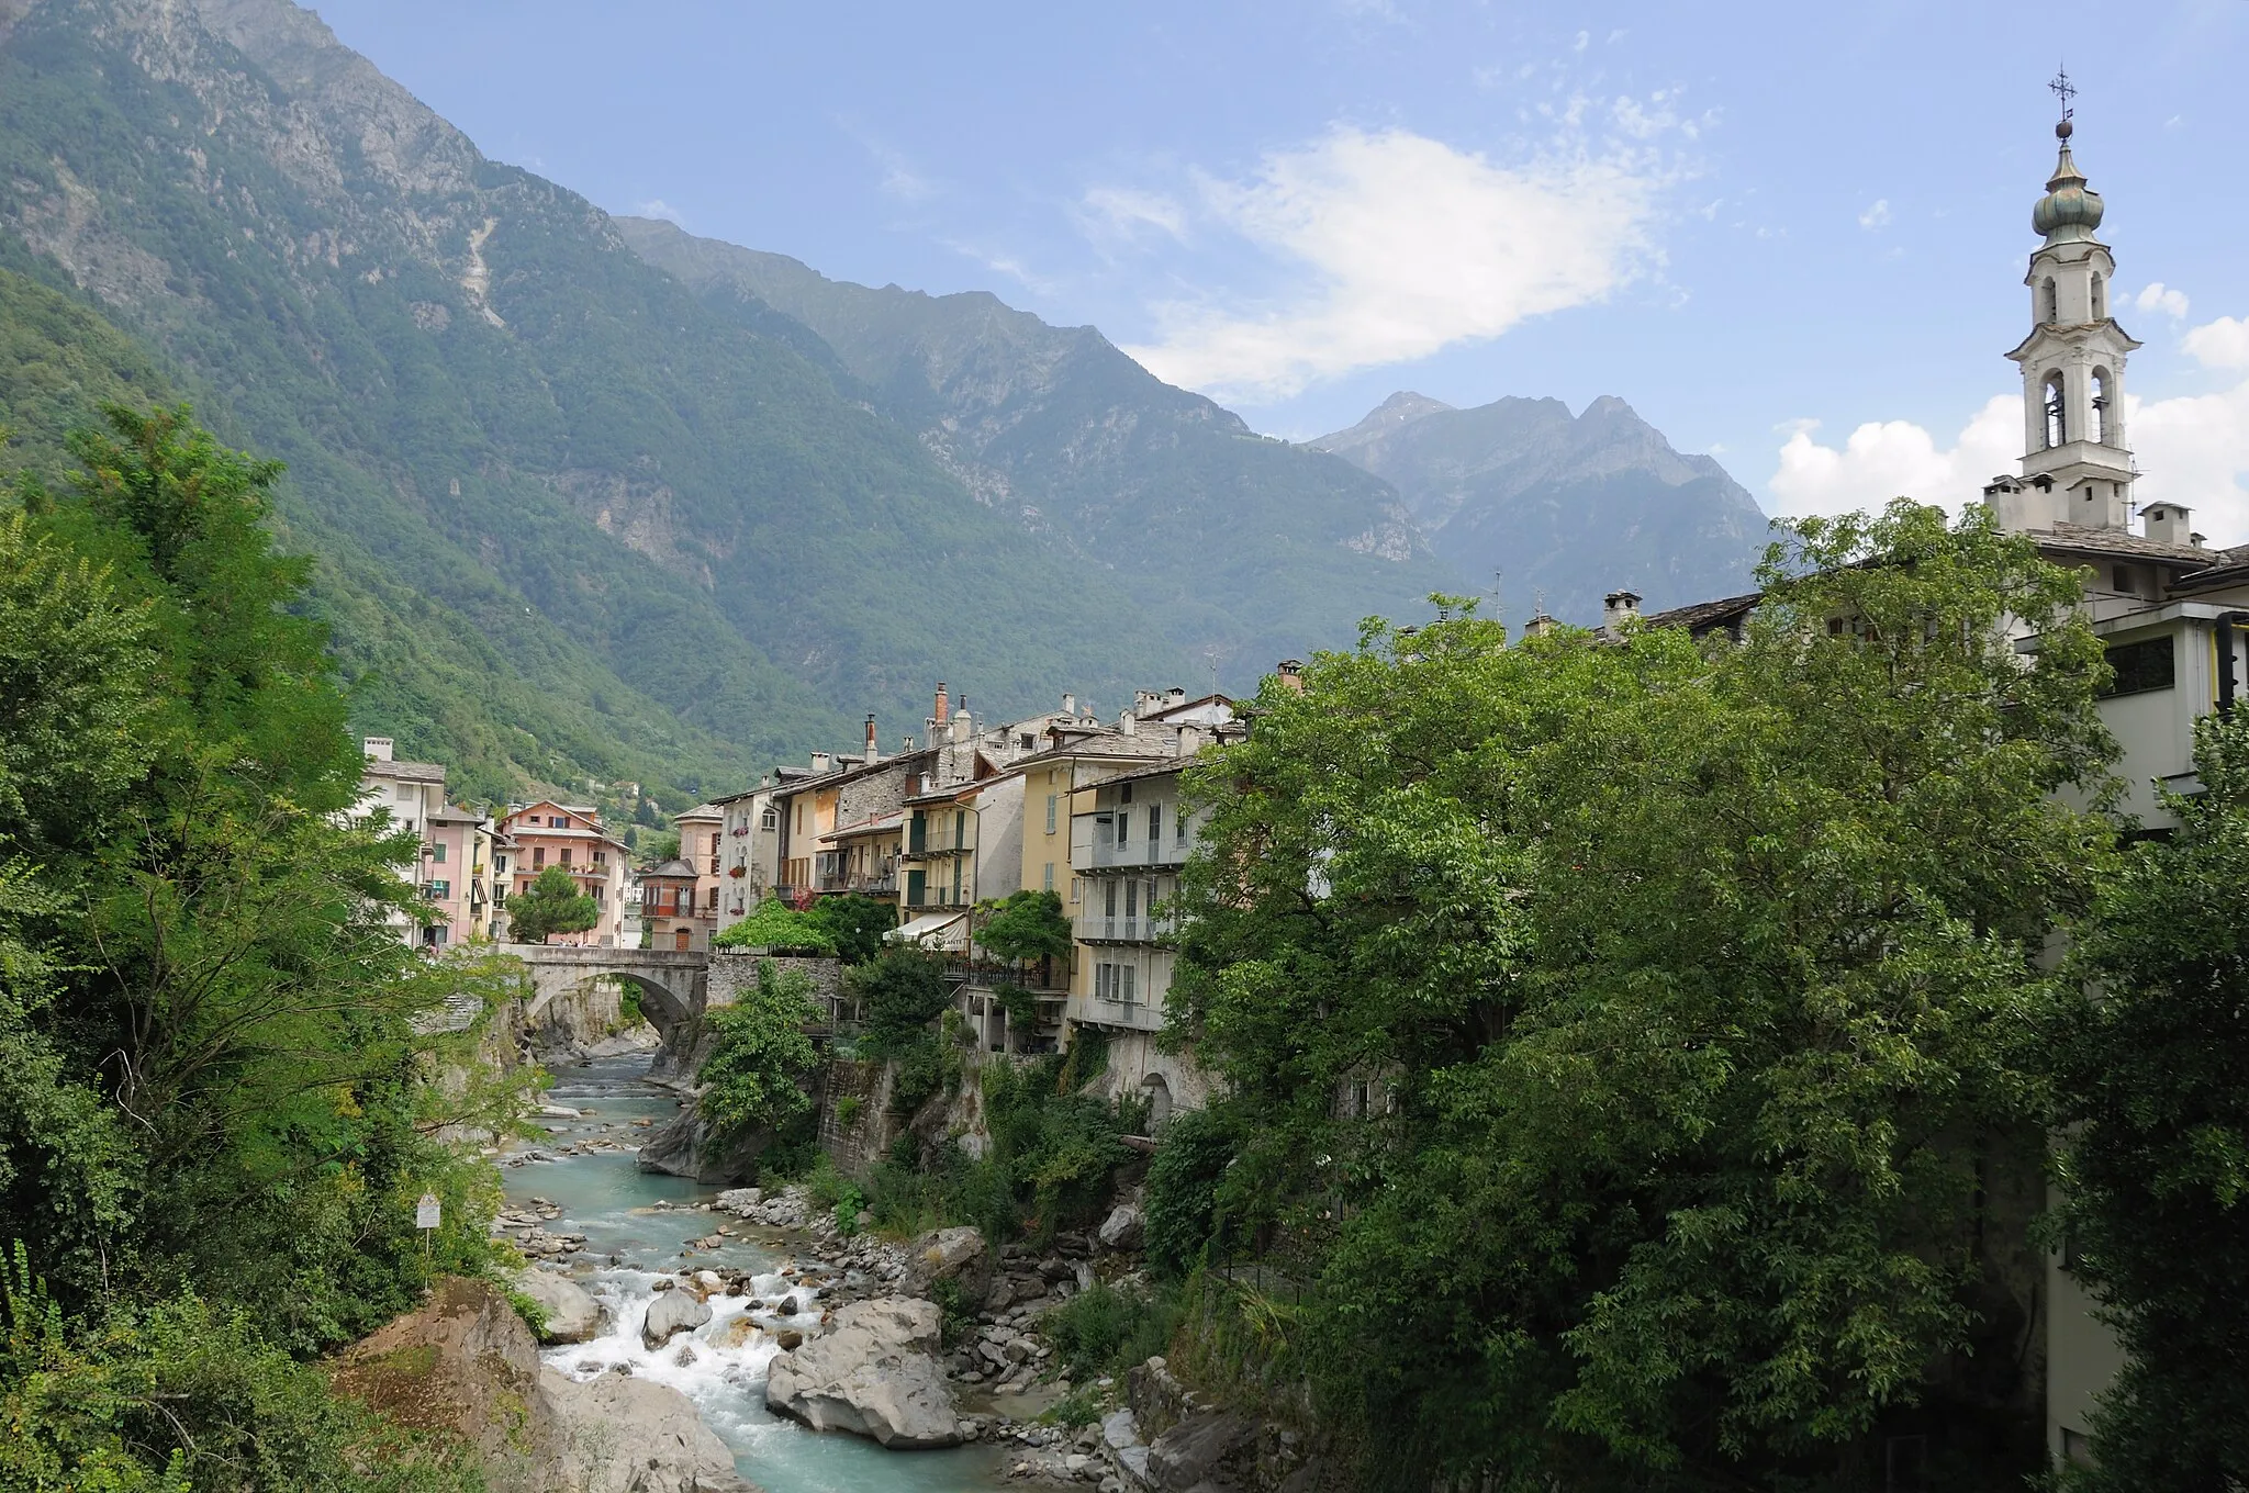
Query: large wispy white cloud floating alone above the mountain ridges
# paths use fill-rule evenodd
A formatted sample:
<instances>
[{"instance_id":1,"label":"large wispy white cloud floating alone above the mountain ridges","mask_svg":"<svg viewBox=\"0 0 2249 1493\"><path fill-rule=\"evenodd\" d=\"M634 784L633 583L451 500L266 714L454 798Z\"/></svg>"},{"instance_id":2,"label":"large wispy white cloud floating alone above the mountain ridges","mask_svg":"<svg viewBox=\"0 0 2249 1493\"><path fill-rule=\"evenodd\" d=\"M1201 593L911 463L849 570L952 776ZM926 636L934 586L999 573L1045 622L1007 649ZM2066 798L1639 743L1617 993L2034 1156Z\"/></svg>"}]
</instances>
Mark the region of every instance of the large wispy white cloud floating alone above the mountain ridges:
<instances>
[{"instance_id":1,"label":"large wispy white cloud floating alone above the mountain ridges","mask_svg":"<svg viewBox=\"0 0 2249 1493\"><path fill-rule=\"evenodd\" d=\"M1169 382L1268 402L1498 337L1631 281L1660 184L1642 148L1500 166L1410 130L1336 126L1246 182L1203 182L1210 218L1302 265L1295 292L1156 306L1158 337L1127 351Z\"/></svg>"}]
</instances>

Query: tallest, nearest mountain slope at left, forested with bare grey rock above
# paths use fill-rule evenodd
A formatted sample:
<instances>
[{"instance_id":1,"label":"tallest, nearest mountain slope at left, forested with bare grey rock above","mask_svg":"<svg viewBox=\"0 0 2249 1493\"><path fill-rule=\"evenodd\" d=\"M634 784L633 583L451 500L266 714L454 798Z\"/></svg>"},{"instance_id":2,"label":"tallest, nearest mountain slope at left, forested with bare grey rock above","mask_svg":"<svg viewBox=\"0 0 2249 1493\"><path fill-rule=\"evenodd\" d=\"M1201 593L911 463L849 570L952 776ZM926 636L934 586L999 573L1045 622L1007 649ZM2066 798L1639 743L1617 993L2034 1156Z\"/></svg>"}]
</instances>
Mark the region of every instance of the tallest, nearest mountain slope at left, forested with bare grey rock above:
<instances>
[{"instance_id":1,"label":"tallest, nearest mountain slope at left, forested with bare grey rock above","mask_svg":"<svg viewBox=\"0 0 2249 1493\"><path fill-rule=\"evenodd\" d=\"M434 609L533 684L598 661L580 693L686 780L713 740L740 776L850 711L918 722L933 679L1005 704L1172 672L1120 589L308 11L7 16L0 263L94 297L229 438L286 459L292 533L391 621ZM603 672L668 717L605 699ZM468 729L436 722L457 740L432 751Z\"/></svg>"}]
</instances>

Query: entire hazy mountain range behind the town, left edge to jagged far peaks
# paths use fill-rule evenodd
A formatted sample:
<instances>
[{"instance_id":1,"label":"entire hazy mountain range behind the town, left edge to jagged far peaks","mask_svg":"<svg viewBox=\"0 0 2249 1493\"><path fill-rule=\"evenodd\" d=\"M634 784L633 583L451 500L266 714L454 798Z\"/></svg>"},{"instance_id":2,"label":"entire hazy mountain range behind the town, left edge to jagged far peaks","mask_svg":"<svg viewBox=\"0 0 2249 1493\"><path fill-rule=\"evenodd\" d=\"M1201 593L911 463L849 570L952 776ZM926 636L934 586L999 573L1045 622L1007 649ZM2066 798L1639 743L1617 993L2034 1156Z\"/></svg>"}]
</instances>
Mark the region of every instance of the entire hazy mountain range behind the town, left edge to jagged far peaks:
<instances>
[{"instance_id":1,"label":"entire hazy mountain range behind the town, left edge to jagged far peaks","mask_svg":"<svg viewBox=\"0 0 2249 1493\"><path fill-rule=\"evenodd\" d=\"M1761 535L1622 402L1300 447L1093 328L609 218L288 0L0 0L0 274L9 461L112 396L286 459L360 724L488 796L677 800L936 679L1241 688L1493 567L1696 600Z\"/></svg>"}]
</instances>

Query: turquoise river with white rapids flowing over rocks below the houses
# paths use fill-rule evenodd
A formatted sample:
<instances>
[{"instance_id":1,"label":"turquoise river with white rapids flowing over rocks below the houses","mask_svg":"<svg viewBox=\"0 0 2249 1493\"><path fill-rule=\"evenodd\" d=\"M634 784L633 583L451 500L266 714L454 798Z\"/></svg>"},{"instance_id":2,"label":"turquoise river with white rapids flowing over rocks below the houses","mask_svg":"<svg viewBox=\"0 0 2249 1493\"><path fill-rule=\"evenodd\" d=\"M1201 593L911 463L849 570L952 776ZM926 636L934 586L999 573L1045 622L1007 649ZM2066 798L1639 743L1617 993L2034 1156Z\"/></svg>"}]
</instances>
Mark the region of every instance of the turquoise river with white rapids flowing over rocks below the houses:
<instances>
[{"instance_id":1,"label":"turquoise river with white rapids flowing over rocks below the houses","mask_svg":"<svg viewBox=\"0 0 2249 1493\"><path fill-rule=\"evenodd\" d=\"M569 1144L589 1135L614 1135L632 1144L645 1129L634 1120L670 1120L679 1100L645 1082L648 1059L605 1059L585 1068L562 1068L547 1100L582 1111L582 1120L549 1120L553 1140ZM733 1448L742 1477L769 1493L990 1493L999 1484L999 1448L963 1446L942 1453L891 1453L852 1435L819 1435L765 1408L765 1367L778 1351L769 1336L733 1345L740 1297L713 1297L711 1322L663 1349L641 1345L641 1320L654 1300L659 1273L731 1266L767 1275L789 1257L749 1241L720 1250L681 1252L690 1239L708 1237L720 1219L706 1212L661 1210L657 1203L702 1203L715 1187L641 1171L630 1151L594 1151L558 1160L504 1167L511 1203L547 1198L562 1210L549 1230L585 1234L594 1259L616 1257L585 1282L609 1309L609 1329L591 1342L549 1349L547 1363L573 1378L591 1378L612 1365L630 1365L641 1378L681 1390L711 1430ZM783 1282L758 1282L760 1295L783 1295ZM805 1318L805 1324L816 1318ZM686 1351L681 1351L686 1349ZM686 1358L686 1363L681 1363Z\"/></svg>"}]
</instances>

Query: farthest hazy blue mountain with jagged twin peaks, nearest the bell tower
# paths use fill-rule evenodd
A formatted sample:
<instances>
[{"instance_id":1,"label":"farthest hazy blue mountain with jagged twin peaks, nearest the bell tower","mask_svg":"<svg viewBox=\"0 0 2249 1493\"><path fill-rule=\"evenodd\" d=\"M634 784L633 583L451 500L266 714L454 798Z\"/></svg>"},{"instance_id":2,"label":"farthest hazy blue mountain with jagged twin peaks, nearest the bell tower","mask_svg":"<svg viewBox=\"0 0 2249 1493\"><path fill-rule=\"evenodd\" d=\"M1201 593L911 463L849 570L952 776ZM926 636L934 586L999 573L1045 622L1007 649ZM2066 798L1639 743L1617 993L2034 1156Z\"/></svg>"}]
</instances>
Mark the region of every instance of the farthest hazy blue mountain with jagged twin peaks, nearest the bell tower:
<instances>
[{"instance_id":1,"label":"farthest hazy blue mountain with jagged twin peaks, nearest the bell tower","mask_svg":"<svg viewBox=\"0 0 2249 1493\"><path fill-rule=\"evenodd\" d=\"M1543 598L1563 621L1601 616L1606 591L1649 609L1750 589L1765 515L1709 456L1682 456L1619 398L1570 416L1561 400L1502 398L1453 409L1392 393L1349 429L1320 436L1381 477L1455 587L1482 594L1500 573L1507 614Z\"/></svg>"}]
</instances>

